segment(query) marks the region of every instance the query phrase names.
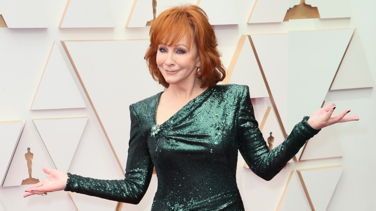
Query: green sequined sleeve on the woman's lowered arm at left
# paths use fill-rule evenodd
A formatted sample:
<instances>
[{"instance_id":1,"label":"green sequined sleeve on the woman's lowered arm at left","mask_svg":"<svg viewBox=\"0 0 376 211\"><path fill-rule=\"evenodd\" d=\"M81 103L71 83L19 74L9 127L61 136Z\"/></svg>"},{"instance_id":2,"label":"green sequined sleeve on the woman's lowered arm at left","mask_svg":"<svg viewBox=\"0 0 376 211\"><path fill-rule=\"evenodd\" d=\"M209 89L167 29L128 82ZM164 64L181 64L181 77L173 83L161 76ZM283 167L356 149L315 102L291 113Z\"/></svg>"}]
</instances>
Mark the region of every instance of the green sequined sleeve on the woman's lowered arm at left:
<instances>
[{"instance_id":1,"label":"green sequined sleeve on the woman's lowered arm at left","mask_svg":"<svg viewBox=\"0 0 376 211\"><path fill-rule=\"evenodd\" d=\"M149 187L153 163L147 147L146 135L140 127L138 116L132 105L129 110L131 126L125 179L93 179L68 173L69 179L65 191L125 203L140 202Z\"/></svg>"}]
</instances>

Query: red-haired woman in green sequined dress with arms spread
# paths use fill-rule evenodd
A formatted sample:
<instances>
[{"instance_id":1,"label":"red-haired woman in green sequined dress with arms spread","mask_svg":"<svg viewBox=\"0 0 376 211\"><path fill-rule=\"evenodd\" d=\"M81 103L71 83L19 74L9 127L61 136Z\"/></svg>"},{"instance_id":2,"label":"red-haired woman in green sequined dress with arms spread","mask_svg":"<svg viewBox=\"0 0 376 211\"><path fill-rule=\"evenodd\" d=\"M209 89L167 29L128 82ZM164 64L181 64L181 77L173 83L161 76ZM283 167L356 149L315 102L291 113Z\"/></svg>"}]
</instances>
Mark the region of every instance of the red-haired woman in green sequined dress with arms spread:
<instances>
[{"instance_id":1,"label":"red-haired woman in green sequined dress with arms spread","mask_svg":"<svg viewBox=\"0 0 376 211\"><path fill-rule=\"evenodd\" d=\"M272 179L306 140L328 125L358 120L329 104L305 117L269 150L255 120L247 86L215 85L225 77L217 39L205 12L177 6L150 28L146 60L167 89L130 105L131 134L124 180L99 180L44 168L49 178L24 197L74 191L139 203L155 166L152 210L244 210L236 183L238 150L258 176Z\"/></svg>"}]
</instances>

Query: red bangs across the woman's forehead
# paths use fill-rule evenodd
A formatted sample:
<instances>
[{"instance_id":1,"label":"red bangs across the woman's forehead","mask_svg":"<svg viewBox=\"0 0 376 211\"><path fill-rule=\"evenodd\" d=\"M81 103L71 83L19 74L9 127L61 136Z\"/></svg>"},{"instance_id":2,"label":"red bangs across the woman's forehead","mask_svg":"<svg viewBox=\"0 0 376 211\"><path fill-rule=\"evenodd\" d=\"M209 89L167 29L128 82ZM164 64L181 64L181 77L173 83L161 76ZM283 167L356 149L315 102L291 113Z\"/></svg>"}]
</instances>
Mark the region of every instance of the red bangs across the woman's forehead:
<instances>
[{"instance_id":1,"label":"red bangs across the woman's forehead","mask_svg":"<svg viewBox=\"0 0 376 211\"><path fill-rule=\"evenodd\" d=\"M159 44L173 46L186 38L188 49L192 46L192 29L190 18L180 11L170 11L168 14L161 13L158 20L152 24L151 31L154 31L155 38L152 39L153 46L158 48Z\"/></svg>"}]
</instances>

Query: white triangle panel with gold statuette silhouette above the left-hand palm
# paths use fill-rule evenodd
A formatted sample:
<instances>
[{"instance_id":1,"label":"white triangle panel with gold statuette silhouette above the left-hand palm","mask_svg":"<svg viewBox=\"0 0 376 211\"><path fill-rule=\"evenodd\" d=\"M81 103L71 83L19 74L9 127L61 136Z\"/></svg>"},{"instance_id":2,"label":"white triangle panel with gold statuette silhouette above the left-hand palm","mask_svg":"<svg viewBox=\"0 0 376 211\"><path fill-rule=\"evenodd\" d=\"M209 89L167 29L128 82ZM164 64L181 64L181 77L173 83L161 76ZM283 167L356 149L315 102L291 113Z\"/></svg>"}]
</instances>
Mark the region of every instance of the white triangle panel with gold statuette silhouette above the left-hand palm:
<instances>
[{"instance_id":1,"label":"white triangle panel with gold statuette silhouette above the left-hand palm","mask_svg":"<svg viewBox=\"0 0 376 211\"><path fill-rule=\"evenodd\" d=\"M27 122L15 149L14 156L5 176L3 186L35 184L48 177L42 167L49 162L33 132L32 123Z\"/></svg>"}]
</instances>

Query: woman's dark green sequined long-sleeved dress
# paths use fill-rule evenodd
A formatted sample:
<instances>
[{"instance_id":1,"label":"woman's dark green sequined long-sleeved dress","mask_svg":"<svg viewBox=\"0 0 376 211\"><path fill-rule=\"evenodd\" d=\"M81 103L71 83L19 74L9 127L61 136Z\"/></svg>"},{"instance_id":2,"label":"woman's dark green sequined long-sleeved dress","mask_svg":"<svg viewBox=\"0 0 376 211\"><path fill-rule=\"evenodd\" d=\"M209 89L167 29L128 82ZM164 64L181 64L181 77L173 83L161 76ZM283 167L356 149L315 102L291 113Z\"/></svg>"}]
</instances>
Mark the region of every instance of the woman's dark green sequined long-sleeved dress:
<instances>
[{"instance_id":1,"label":"woman's dark green sequined long-sleeved dress","mask_svg":"<svg viewBox=\"0 0 376 211\"><path fill-rule=\"evenodd\" d=\"M158 188L152 211L243 211L236 182L238 150L256 175L270 180L319 131L305 117L269 151L254 117L249 88L234 84L205 90L157 131L153 127L161 94L130 105L125 179L68 173L66 191L136 204L155 166Z\"/></svg>"}]
</instances>

